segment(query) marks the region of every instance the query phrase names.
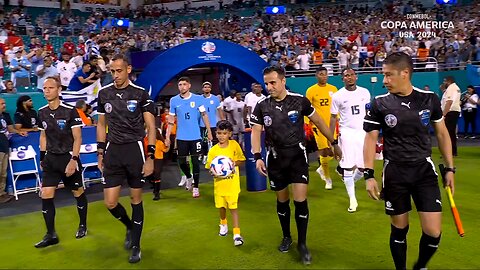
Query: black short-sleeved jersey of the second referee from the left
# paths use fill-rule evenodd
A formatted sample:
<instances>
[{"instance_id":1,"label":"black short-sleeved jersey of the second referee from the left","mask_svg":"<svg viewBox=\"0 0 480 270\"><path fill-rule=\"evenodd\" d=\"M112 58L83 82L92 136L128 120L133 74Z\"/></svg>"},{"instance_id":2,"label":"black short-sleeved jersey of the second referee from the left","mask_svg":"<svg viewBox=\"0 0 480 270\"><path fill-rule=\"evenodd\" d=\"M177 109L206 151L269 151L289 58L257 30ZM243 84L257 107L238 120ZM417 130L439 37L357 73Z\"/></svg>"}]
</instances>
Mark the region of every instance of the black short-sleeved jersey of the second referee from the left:
<instances>
[{"instance_id":1,"label":"black short-sleeved jersey of the second referee from the left","mask_svg":"<svg viewBox=\"0 0 480 270\"><path fill-rule=\"evenodd\" d=\"M107 141L126 144L145 137L143 113L155 115L153 101L144 88L130 82L117 89L109 84L98 93L98 114L105 114Z\"/></svg>"}]
</instances>

